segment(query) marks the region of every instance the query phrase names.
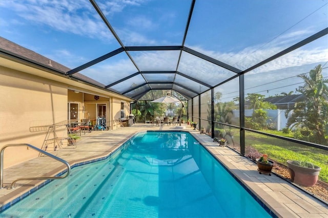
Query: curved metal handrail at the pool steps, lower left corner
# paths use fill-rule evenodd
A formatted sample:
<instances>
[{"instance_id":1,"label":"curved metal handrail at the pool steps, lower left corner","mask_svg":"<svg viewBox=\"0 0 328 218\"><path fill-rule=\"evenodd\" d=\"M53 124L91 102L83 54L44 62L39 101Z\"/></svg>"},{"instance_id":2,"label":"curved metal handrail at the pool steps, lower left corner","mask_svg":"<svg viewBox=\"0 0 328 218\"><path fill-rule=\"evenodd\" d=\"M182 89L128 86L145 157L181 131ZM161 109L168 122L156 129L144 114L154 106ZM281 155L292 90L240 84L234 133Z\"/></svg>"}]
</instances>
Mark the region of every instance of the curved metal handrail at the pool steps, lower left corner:
<instances>
[{"instance_id":1,"label":"curved metal handrail at the pool steps, lower left corner","mask_svg":"<svg viewBox=\"0 0 328 218\"><path fill-rule=\"evenodd\" d=\"M7 188L7 189L12 189L14 188L16 182L18 181L22 181L22 180L57 180L57 179L64 179L66 177L69 176L70 172L71 172L71 165L61 159L61 158L58 158L50 153L48 153L47 151L45 150L42 150L42 149L39 149L37 147L34 147L33 145L30 145L30 144L26 144L26 143L23 143L23 144L7 144L5 146L3 146L0 150L0 189L4 188L4 151L5 151L5 148L7 147L18 147L18 146L27 146L27 147L30 147L34 150L37 150L39 151L40 153L46 155L46 156L49 156L50 158L53 158L61 163L64 163L66 166L67 166L67 172L66 172L66 175L65 176L60 176L60 177L31 177L31 178L18 178L16 179L15 181L13 181L11 183L11 185Z\"/></svg>"}]
</instances>

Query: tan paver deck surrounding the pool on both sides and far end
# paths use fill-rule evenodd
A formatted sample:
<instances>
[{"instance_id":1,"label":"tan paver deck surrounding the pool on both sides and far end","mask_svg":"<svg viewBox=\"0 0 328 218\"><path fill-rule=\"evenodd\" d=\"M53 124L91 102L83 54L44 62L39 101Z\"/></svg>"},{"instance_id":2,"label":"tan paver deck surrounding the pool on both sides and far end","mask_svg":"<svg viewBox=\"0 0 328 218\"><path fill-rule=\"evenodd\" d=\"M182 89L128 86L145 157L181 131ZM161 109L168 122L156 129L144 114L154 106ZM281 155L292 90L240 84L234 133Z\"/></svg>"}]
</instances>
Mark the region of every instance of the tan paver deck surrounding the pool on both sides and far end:
<instances>
[{"instance_id":1,"label":"tan paver deck surrounding the pool on both sides and far end","mask_svg":"<svg viewBox=\"0 0 328 218\"><path fill-rule=\"evenodd\" d=\"M186 124L190 132L202 145L216 157L243 185L250 189L278 217L328 217L328 205L293 184L272 174L259 174L256 163L239 156L228 147L220 147L207 135L199 134ZM151 124L134 124L111 131L92 131L81 134L76 148L61 148L51 152L70 163L71 166L108 156L113 150L142 130L180 130L176 126L152 126ZM24 142L23 142L24 143ZM36 145L34 145L36 146ZM7 148L10 149L10 148ZM37 156L36 152L36 156ZM6 158L6 155L4 156ZM7 157L8 158L8 157ZM4 186L17 178L48 177L57 175L66 168L60 162L49 157L37 157L30 161L4 169ZM20 197L28 195L45 181L18 181L14 189L0 189L1 210L14 204ZM224 185L224 184L223 184ZM237 205L236 205L237 206Z\"/></svg>"}]
</instances>

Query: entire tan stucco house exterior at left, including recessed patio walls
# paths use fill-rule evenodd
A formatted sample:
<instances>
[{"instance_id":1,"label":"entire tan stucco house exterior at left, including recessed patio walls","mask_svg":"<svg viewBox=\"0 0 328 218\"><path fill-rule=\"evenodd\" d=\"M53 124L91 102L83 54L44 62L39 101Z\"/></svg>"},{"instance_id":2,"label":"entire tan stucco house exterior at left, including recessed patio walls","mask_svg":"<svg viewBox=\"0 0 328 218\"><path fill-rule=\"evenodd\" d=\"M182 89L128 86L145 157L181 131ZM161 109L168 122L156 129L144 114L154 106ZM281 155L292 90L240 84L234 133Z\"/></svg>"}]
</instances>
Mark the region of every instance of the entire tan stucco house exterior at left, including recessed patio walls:
<instances>
[{"instance_id":1,"label":"entire tan stucco house exterior at left, including recessed patio walls","mask_svg":"<svg viewBox=\"0 0 328 218\"><path fill-rule=\"evenodd\" d=\"M37 75L0 66L0 147L28 143L42 148L47 132L33 126L67 121L68 102L79 103L79 119L86 118L83 107L86 100L89 103L106 103L109 130L119 128L116 120L120 115L121 101L127 102L126 115L129 115L130 99L124 96L119 98L117 94L48 72L35 72L38 72ZM74 88L82 91L74 93L71 91ZM95 95L99 95L98 100L94 99ZM61 127L60 136L57 133L58 137L63 134L67 134L65 126ZM36 157L38 152L26 146L8 147L4 154L4 168Z\"/></svg>"}]
</instances>

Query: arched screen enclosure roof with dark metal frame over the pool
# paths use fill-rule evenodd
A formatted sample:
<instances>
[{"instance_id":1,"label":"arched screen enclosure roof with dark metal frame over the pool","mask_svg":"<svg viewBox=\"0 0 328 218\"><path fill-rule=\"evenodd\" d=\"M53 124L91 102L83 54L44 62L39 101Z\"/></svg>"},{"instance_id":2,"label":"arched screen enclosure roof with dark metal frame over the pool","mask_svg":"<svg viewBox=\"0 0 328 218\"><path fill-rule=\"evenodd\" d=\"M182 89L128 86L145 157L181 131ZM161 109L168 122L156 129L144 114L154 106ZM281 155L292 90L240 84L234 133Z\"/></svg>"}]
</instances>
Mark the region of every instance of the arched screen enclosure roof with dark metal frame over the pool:
<instances>
[{"instance_id":1,"label":"arched screen enclosure roof with dark metal frame over the pool","mask_svg":"<svg viewBox=\"0 0 328 218\"><path fill-rule=\"evenodd\" d=\"M136 100L163 90L191 99L328 32L326 0L13 0L0 9L1 36Z\"/></svg>"}]
</instances>

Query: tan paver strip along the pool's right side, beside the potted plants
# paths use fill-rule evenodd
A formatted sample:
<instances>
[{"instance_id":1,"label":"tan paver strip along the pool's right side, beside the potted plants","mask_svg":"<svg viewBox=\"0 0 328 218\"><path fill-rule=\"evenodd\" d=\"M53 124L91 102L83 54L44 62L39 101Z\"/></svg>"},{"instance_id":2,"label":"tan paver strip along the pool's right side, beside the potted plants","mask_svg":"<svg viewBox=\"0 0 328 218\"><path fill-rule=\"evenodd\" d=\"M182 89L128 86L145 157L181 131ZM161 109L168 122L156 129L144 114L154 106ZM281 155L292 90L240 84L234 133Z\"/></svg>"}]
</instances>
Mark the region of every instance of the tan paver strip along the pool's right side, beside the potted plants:
<instances>
[{"instance_id":1,"label":"tan paver strip along the pool's right side, beside the potted plants","mask_svg":"<svg viewBox=\"0 0 328 218\"><path fill-rule=\"evenodd\" d=\"M218 143L213 142L213 139L211 139L212 141L209 141L209 139L204 140L204 137L201 137L200 134L192 133L192 135L277 217L326 217L328 215L328 205L313 197L308 192L299 189L294 184L285 181L273 173L272 176L265 175L264 173L260 175L257 171L257 164L255 162L247 157L240 156L232 148L218 146ZM235 162L229 156L238 157L238 162ZM275 187L274 183L277 183L276 181L282 185L280 187ZM291 195L290 199L285 200L286 203L279 202L277 196L280 192L288 191L290 193L286 194ZM279 194L277 195L275 192ZM303 199L301 195L304 196ZM304 200L304 202L301 202L301 200ZM309 203L309 205L306 205L305 201L308 201L307 203ZM311 215L312 213L304 214L301 209L296 208L302 204L305 210L313 211L313 215ZM291 209L293 206L295 206L295 211ZM322 210L318 209L318 207L322 207Z\"/></svg>"}]
</instances>

